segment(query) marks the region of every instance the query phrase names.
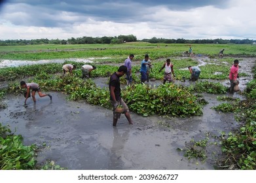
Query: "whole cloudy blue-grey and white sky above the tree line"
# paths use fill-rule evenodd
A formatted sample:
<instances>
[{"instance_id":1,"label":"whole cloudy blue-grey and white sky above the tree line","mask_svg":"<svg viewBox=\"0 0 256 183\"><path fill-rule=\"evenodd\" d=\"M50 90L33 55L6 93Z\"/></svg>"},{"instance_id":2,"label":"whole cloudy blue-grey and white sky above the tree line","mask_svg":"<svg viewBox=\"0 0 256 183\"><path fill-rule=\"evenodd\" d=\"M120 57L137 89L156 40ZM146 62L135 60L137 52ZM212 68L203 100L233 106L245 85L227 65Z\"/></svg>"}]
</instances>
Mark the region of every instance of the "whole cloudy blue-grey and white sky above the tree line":
<instances>
[{"instance_id":1,"label":"whole cloudy blue-grey and white sky above the tree line","mask_svg":"<svg viewBox=\"0 0 256 183\"><path fill-rule=\"evenodd\" d=\"M0 0L0 40L255 40L255 7L255 0Z\"/></svg>"}]
</instances>

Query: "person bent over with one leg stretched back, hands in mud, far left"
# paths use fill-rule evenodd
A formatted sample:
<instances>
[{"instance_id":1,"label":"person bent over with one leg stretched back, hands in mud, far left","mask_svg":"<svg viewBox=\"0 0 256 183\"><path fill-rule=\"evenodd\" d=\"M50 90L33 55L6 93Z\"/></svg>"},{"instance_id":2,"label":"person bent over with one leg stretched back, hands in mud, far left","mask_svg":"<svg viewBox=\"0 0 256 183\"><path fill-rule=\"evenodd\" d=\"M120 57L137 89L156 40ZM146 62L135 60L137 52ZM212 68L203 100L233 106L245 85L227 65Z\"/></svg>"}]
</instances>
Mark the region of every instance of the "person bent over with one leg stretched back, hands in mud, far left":
<instances>
[{"instance_id":1,"label":"person bent over with one leg stretched back, hands in mud, far left","mask_svg":"<svg viewBox=\"0 0 256 183\"><path fill-rule=\"evenodd\" d=\"M48 97L50 97L50 99L52 99L52 95L41 93L41 89L40 89L39 85L35 82L31 82L31 83L26 84L26 82L21 81L20 86L22 88L27 88L27 95L26 95L26 99L25 99L25 105L26 105L27 98L30 95L30 88L32 89L32 98L33 98L34 103L35 103L35 92L38 92L40 97L48 96Z\"/></svg>"}]
</instances>

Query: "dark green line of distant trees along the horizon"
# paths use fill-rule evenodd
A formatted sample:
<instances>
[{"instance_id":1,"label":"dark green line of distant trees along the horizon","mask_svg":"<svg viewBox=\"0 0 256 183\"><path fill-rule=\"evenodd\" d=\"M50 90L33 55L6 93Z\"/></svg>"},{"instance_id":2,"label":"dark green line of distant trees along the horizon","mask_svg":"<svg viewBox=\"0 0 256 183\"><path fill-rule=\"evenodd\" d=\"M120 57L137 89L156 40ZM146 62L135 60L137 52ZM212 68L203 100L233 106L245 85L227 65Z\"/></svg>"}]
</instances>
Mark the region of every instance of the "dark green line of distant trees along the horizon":
<instances>
[{"instance_id":1,"label":"dark green line of distant trees along the horizon","mask_svg":"<svg viewBox=\"0 0 256 183\"><path fill-rule=\"evenodd\" d=\"M187 44L255 44L256 41L249 39L164 39L153 37L151 39L137 40L134 35L119 35L118 37L78 37L71 39L16 39L0 40L0 46L14 46L26 44L121 44L124 42L151 42L151 43L187 43Z\"/></svg>"}]
</instances>

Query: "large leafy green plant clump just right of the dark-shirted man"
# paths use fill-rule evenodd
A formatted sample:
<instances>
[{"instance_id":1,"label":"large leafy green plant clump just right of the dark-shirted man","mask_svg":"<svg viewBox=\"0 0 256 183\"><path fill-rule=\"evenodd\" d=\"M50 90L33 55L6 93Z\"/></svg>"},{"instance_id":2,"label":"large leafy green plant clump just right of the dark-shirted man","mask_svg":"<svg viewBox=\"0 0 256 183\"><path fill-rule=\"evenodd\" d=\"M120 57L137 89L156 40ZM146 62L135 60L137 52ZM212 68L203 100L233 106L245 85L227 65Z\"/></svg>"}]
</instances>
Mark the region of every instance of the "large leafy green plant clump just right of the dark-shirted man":
<instances>
[{"instance_id":1,"label":"large leafy green plant clump just right of the dark-shirted man","mask_svg":"<svg viewBox=\"0 0 256 183\"><path fill-rule=\"evenodd\" d=\"M165 84L158 88L136 84L127 88L124 99L131 110L143 116L158 114L185 117L202 114L196 96L187 88L175 84Z\"/></svg>"}]
</instances>

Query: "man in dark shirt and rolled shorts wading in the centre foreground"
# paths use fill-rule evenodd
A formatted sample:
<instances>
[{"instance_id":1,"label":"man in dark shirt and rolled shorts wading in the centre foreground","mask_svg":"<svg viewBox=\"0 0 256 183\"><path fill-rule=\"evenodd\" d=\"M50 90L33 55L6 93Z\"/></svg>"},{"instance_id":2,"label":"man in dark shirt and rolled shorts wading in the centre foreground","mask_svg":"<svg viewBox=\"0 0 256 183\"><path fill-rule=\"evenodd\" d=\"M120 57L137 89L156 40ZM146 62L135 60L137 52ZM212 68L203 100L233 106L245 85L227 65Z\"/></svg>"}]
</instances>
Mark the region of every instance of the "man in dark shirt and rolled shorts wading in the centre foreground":
<instances>
[{"instance_id":1,"label":"man in dark shirt and rolled shorts wading in the centre foreground","mask_svg":"<svg viewBox=\"0 0 256 183\"><path fill-rule=\"evenodd\" d=\"M118 71L113 73L109 78L109 92L110 92L110 101L113 106L113 126L117 125L117 120L120 118L120 113L115 112L115 109L118 105L122 105L123 114L126 116L130 125L133 124L130 117L129 108L121 97L120 89L120 77L127 73L127 67L122 65L119 67Z\"/></svg>"}]
</instances>

